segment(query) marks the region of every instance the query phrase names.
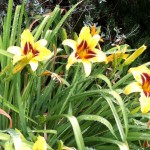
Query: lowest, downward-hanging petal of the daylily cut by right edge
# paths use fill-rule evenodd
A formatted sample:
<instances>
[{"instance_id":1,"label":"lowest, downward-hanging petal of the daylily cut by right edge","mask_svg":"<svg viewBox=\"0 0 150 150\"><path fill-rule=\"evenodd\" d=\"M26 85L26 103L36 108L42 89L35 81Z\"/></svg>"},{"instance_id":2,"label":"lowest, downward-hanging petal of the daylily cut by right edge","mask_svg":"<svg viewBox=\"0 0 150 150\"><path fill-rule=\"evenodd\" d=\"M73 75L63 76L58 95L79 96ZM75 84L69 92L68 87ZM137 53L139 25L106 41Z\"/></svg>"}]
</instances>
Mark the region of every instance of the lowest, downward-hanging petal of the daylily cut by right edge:
<instances>
[{"instance_id":1,"label":"lowest, downward-hanging petal of the daylily cut by right edge","mask_svg":"<svg viewBox=\"0 0 150 150\"><path fill-rule=\"evenodd\" d=\"M150 111L150 98L145 97L144 93L141 93L141 97L139 99L141 105L141 112L147 113Z\"/></svg>"}]
</instances>

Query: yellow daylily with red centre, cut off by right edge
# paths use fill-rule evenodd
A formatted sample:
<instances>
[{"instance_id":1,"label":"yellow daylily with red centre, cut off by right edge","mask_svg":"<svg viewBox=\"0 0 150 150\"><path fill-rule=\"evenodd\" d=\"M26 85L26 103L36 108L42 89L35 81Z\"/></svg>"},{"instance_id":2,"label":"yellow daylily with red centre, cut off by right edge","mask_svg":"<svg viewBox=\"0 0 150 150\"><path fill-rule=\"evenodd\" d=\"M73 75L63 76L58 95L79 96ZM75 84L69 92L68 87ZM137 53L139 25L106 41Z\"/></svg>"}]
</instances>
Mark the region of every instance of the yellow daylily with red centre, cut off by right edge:
<instances>
[{"instance_id":1,"label":"yellow daylily with red centre, cut off by right edge","mask_svg":"<svg viewBox=\"0 0 150 150\"><path fill-rule=\"evenodd\" d=\"M145 66L131 68L129 70L136 80L126 86L125 93L140 92L140 105L142 113L150 111L150 70Z\"/></svg>"}]
</instances>

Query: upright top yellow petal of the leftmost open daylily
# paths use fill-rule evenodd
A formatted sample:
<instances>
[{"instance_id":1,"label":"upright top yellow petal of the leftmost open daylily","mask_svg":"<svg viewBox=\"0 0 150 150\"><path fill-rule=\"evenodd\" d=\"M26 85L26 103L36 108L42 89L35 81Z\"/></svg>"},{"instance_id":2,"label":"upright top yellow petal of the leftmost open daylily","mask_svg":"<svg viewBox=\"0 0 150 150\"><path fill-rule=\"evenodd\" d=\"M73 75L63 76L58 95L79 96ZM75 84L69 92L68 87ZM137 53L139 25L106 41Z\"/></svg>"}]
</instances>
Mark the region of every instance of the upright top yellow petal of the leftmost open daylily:
<instances>
[{"instance_id":1,"label":"upright top yellow petal of the leftmost open daylily","mask_svg":"<svg viewBox=\"0 0 150 150\"><path fill-rule=\"evenodd\" d=\"M29 29L26 29L21 34L21 48L24 49L26 42L29 42L32 46L34 45L34 39Z\"/></svg>"}]
</instances>

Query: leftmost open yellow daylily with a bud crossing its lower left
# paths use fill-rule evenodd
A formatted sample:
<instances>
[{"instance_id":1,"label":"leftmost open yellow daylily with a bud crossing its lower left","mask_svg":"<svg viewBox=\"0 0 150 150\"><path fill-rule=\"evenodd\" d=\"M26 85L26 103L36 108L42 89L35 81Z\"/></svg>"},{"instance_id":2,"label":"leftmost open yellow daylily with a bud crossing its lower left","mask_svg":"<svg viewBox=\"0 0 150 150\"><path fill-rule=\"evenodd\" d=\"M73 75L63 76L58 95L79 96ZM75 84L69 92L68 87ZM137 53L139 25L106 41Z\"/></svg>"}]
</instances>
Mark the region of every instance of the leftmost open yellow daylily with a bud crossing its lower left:
<instances>
[{"instance_id":1,"label":"leftmost open yellow daylily with a bud crossing its lower left","mask_svg":"<svg viewBox=\"0 0 150 150\"><path fill-rule=\"evenodd\" d=\"M24 30L21 34L21 47L10 46L8 48L8 52L14 54L13 65L19 63L14 70L19 71L25 65L30 64L31 69L35 71L38 67L38 61L44 61L51 57L51 51L45 47L46 44L45 39L34 42L34 37L29 29Z\"/></svg>"}]
</instances>

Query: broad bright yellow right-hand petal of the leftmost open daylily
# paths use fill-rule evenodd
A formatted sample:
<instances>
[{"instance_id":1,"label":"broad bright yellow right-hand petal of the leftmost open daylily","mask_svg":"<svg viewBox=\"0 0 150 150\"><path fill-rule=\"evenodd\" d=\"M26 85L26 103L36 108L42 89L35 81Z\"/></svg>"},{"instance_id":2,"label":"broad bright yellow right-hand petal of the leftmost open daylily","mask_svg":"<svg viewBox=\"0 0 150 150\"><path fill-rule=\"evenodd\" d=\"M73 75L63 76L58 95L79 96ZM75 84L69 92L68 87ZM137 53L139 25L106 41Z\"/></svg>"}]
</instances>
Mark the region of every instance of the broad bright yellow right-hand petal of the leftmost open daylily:
<instances>
[{"instance_id":1,"label":"broad bright yellow right-hand petal of the leftmost open daylily","mask_svg":"<svg viewBox=\"0 0 150 150\"><path fill-rule=\"evenodd\" d=\"M43 61L49 59L51 57L51 51L48 50L46 47L37 47L36 50L39 51L38 55L34 57L34 59L38 61Z\"/></svg>"}]
</instances>

